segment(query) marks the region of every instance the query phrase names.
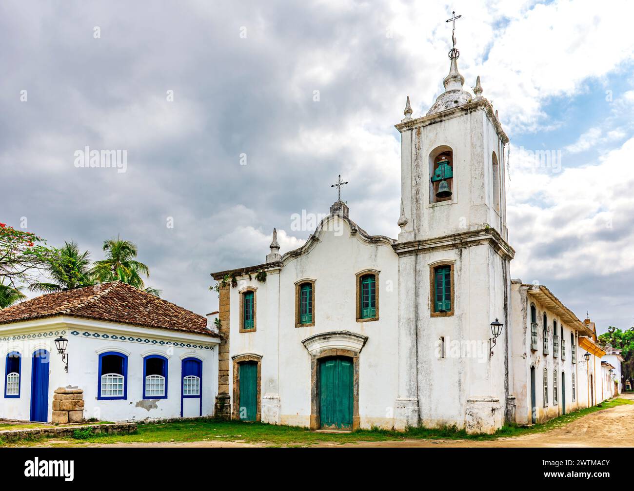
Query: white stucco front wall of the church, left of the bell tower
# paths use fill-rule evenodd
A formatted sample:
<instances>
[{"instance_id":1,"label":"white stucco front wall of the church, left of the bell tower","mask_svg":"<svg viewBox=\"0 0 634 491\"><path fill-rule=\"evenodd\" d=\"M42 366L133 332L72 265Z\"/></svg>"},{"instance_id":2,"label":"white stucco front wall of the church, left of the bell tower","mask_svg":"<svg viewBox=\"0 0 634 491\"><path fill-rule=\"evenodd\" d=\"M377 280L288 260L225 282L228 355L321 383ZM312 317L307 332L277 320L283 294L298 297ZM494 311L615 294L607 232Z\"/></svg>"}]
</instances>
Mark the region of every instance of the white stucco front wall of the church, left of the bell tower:
<instances>
[{"instance_id":1,"label":"white stucco front wall of the church, left of the bell tower","mask_svg":"<svg viewBox=\"0 0 634 491\"><path fill-rule=\"evenodd\" d=\"M391 245L368 243L346 220L328 217L307 253L269 271L266 282L238 278L230 292L230 357L262 355L262 397L279 397L281 424L309 426L311 356L307 337L329 331L368 336L359 355L359 418L362 428L391 428L396 399L398 257ZM379 320L356 321L356 273L378 270ZM295 283L314 280L314 326L295 328ZM256 288L256 331L240 333L240 291ZM230 377L233 397L233 377ZM264 407L262 409L264 412ZM266 421L266 418L263 418Z\"/></svg>"}]
</instances>

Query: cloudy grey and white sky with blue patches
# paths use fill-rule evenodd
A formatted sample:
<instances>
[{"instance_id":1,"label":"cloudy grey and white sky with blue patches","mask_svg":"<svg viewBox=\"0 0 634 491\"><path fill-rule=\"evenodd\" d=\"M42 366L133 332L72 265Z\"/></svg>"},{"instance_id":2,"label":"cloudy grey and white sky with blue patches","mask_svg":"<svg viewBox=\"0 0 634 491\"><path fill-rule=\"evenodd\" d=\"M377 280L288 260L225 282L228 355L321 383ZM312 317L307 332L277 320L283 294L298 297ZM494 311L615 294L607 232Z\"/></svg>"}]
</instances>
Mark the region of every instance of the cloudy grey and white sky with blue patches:
<instances>
[{"instance_id":1,"label":"cloudy grey and white sky with blue patches","mask_svg":"<svg viewBox=\"0 0 634 491\"><path fill-rule=\"evenodd\" d=\"M327 213L337 174L351 218L396 237L394 124L441 92L451 10L465 88L481 75L510 136L512 276L630 327L627 1L3 0L0 221L93 259L120 234L200 314L209 273L263 262L274 226L281 252L303 243L292 215ZM86 146L127 150L126 172L75 167Z\"/></svg>"}]
</instances>

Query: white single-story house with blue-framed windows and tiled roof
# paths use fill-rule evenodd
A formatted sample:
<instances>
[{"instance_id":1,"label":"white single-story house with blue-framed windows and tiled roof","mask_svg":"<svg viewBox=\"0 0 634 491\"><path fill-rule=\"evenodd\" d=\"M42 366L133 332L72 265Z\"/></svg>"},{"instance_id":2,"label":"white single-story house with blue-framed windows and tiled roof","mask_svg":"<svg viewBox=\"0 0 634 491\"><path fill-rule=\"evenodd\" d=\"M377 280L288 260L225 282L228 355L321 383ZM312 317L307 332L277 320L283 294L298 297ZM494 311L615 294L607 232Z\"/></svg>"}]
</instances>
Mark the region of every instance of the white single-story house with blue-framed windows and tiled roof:
<instances>
[{"instance_id":1,"label":"white single-story house with blue-framed windows and tiled roof","mask_svg":"<svg viewBox=\"0 0 634 491\"><path fill-rule=\"evenodd\" d=\"M55 340L67 340L60 354ZM210 416L221 336L190 310L114 281L0 310L0 418L65 422ZM82 393L70 416L57 388ZM82 392L83 391L83 392ZM73 396L55 397L72 399ZM81 399L81 395L75 399ZM79 407L77 407L79 406Z\"/></svg>"}]
</instances>

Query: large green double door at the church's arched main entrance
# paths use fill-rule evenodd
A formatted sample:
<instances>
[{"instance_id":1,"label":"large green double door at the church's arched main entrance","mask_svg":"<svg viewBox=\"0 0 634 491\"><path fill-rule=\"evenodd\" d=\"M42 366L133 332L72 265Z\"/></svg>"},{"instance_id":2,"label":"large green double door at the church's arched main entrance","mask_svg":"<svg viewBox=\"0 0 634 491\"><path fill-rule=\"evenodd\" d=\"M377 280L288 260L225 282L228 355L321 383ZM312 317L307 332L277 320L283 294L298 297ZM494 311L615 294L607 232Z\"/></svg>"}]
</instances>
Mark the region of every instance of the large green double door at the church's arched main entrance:
<instances>
[{"instance_id":1,"label":"large green double door at the church's arched main entrance","mask_svg":"<svg viewBox=\"0 0 634 491\"><path fill-rule=\"evenodd\" d=\"M353 428L353 361L328 358L320 363L321 428Z\"/></svg>"}]
</instances>

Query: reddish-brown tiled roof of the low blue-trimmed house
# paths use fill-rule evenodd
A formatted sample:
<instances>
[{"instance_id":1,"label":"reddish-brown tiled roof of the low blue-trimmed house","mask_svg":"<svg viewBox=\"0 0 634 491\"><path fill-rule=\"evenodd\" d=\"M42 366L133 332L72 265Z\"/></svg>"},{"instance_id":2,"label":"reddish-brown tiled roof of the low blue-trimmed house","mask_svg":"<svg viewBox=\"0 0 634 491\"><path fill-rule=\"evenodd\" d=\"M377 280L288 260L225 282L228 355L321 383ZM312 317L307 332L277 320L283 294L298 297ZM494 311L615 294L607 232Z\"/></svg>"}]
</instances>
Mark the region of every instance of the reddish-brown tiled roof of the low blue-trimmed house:
<instances>
[{"instance_id":1,"label":"reddish-brown tiled roof of the low blue-trimmed house","mask_svg":"<svg viewBox=\"0 0 634 491\"><path fill-rule=\"evenodd\" d=\"M67 316L219 337L207 319L120 281L48 293L0 310L0 324Z\"/></svg>"}]
</instances>

